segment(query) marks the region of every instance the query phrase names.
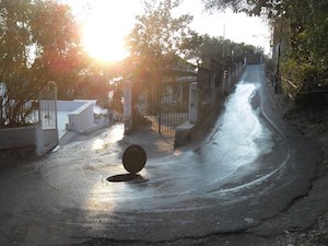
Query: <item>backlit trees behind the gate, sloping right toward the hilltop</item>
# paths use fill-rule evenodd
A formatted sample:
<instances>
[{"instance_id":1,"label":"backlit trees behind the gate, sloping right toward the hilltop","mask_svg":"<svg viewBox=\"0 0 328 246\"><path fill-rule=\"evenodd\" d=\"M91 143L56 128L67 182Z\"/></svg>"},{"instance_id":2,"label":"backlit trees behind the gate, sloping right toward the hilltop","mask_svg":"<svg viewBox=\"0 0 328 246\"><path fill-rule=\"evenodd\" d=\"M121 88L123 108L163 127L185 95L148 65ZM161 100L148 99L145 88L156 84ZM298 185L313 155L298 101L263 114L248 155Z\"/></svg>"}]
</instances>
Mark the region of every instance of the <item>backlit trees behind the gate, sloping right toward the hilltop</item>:
<instances>
[{"instance_id":1,"label":"backlit trees behind the gate, sloping right toward the hilltop","mask_svg":"<svg viewBox=\"0 0 328 246\"><path fill-rule=\"evenodd\" d=\"M128 36L131 56L125 67L130 65L130 74L167 68L186 69L187 60L209 67L211 59L237 59L258 50L223 37L199 35L189 28L192 16L173 16L173 10L179 4L179 0L145 1L144 13L137 16L134 28Z\"/></svg>"}]
</instances>

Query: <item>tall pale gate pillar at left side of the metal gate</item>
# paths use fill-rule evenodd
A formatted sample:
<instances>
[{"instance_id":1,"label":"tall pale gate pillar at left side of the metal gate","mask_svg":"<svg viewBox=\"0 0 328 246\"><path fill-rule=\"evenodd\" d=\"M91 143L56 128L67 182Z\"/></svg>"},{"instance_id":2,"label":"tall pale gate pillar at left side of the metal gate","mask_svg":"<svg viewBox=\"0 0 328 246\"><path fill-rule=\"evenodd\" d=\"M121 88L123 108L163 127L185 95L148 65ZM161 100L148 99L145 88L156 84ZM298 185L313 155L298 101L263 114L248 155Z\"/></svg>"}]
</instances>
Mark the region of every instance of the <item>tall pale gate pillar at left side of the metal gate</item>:
<instances>
[{"instance_id":1,"label":"tall pale gate pillar at left side of the metal gate","mask_svg":"<svg viewBox=\"0 0 328 246\"><path fill-rule=\"evenodd\" d=\"M124 122L125 133L132 130L132 83L124 82Z\"/></svg>"}]
</instances>

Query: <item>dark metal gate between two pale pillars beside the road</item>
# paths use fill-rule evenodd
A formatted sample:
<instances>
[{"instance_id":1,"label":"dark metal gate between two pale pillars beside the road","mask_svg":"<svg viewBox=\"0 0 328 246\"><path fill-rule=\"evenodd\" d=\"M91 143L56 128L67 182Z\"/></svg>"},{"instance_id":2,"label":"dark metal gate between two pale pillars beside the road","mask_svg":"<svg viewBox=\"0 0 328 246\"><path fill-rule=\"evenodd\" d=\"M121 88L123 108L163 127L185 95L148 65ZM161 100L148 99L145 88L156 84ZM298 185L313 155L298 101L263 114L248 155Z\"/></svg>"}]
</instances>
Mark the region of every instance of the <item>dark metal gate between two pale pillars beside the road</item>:
<instances>
[{"instance_id":1,"label":"dark metal gate between two pale pillars beside the road","mask_svg":"<svg viewBox=\"0 0 328 246\"><path fill-rule=\"evenodd\" d=\"M195 79L194 79L195 81ZM192 80L164 81L157 86L133 86L133 129L172 137L189 118L189 84Z\"/></svg>"}]
</instances>

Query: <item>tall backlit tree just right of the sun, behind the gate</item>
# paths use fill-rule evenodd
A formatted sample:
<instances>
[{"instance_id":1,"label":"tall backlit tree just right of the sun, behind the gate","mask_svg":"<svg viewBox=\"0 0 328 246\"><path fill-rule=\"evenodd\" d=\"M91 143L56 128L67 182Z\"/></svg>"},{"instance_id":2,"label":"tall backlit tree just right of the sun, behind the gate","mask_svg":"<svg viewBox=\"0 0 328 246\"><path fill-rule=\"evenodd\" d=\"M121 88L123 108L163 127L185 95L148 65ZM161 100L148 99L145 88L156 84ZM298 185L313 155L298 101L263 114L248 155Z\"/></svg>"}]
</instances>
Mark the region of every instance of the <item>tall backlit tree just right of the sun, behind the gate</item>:
<instances>
[{"instance_id":1,"label":"tall backlit tree just right of the sun, behind the gate","mask_svg":"<svg viewBox=\"0 0 328 246\"><path fill-rule=\"evenodd\" d=\"M172 11L179 0L145 1L144 13L138 15L128 37L131 70L139 72L173 68L189 48L187 40L195 33L188 27L188 14L174 17Z\"/></svg>"}]
</instances>

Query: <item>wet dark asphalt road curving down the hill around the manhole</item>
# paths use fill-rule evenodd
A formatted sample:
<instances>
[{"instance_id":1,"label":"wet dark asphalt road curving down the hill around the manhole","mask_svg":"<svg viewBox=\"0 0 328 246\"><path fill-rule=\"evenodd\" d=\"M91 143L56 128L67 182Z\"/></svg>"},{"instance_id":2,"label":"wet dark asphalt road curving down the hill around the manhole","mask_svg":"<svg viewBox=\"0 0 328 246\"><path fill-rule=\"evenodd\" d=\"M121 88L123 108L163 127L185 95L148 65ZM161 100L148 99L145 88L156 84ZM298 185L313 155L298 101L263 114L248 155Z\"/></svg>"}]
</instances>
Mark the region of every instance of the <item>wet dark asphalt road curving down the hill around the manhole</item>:
<instances>
[{"instance_id":1,"label":"wet dark asphalt road curving down the hill around the manhole","mask_svg":"<svg viewBox=\"0 0 328 246\"><path fill-rule=\"evenodd\" d=\"M307 195L321 157L283 121L262 66L246 68L201 142L173 149L141 139L148 161L132 179L121 156L138 138L122 131L114 125L37 161L1 161L0 245L183 245L265 234L262 224Z\"/></svg>"}]
</instances>

